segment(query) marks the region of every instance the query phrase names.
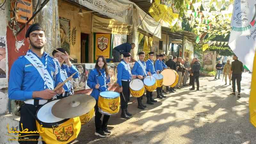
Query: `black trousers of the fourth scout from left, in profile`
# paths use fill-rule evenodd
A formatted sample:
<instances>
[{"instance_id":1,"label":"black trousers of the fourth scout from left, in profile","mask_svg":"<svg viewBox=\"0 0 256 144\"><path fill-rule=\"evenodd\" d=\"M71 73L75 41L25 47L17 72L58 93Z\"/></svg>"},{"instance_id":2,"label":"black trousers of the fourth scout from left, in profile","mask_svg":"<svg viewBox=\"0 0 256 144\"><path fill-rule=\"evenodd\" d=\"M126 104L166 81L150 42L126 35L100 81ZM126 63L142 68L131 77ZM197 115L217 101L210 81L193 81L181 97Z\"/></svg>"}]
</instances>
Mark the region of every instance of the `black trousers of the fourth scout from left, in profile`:
<instances>
[{"instance_id":1,"label":"black trousers of the fourth scout from left, in profile","mask_svg":"<svg viewBox=\"0 0 256 144\"><path fill-rule=\"evenodd\" d=\"M130 101L130 90L129 90L130 82L122 81L123 94L120 92L121 99L121 109L125 109L128 106L128 102ZM124 100L125 98L125 100Z\"/></svg>"}]
</instances>

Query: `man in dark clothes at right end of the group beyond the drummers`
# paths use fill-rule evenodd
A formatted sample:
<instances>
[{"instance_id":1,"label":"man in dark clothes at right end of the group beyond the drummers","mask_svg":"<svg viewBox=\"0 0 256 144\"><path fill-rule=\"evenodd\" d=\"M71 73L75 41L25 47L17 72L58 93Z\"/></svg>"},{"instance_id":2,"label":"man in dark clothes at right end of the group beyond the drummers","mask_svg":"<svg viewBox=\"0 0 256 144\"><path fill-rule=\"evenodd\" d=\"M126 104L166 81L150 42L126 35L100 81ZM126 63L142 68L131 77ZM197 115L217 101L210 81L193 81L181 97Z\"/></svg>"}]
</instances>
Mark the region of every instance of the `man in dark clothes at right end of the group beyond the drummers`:
<instances>
[{"instance_id":1,"label":"man in dark clothes at right end of the group beyond the drummers","mask_svg":"<svg viewBox=\"0 0 256 144\"><path fill-rule=\"evenodd\" d=\"M190 90L195 90L195 79L196 79L196 90L199 91L199 76L201 64L197 58L193 59L193 65L191 66L191 76L192 76L192 88Z\"/></svg>"}]
</instances>

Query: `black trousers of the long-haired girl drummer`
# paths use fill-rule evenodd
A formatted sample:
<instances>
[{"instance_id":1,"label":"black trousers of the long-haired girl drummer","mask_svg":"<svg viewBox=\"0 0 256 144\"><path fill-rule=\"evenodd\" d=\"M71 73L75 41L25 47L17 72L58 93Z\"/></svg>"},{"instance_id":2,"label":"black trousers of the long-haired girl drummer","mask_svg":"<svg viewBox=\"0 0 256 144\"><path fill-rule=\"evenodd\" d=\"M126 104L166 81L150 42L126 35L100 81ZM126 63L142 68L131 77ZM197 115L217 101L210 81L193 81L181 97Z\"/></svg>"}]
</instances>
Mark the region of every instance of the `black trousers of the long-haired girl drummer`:
<instances>
[{"instance_id":1,"label":"black trousers of the long-haired girl drummer","mask_svg":"<svg viewBox=\"0 0 256 144\"><path fill-rule=\"evenodd\" d=\"M101 122L100 118L102 116L102 114L99 112L99 107L98 107L98 100L96 100L96 105L95 105L95 128L96 128L96 132L100 131L100 130L105 130L107 128L108 125L108 120L109 120L109 115L103 115L103 120Z\"/></svg>"}]
</instances>

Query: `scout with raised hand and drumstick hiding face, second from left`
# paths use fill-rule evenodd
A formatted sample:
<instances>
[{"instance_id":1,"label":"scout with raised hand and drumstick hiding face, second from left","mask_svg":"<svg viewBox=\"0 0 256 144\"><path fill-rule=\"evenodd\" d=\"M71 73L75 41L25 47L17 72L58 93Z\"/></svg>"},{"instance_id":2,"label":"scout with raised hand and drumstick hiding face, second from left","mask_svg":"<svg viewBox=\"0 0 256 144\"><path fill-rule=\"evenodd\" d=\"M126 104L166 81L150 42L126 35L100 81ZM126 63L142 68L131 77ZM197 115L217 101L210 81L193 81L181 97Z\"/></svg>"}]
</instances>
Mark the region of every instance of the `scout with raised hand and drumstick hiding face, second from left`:
<instances>
[{"instance_id":1,"label":"scout with raised hand and drumstick hiding face, second from left","mask_svg":"<svg viewBox=\"0 0 256 144\"><path fill-rule=\"evenodd\" d=\"M56 58L57 60L59 60L59 62L60 62L60 77L61 77L61 80L65 81L69 76L71 76L75 72L76 72L76 74L73 76L73 78L78 78L79 77L78 70L70 62L67 51L65 51L63 48L57 48L57 50L62 52L62 53L65 53L65 55L64 55L64 54L62 54L62 53L60 53L56 50L54 50L52 52L53 57ZM67 65L63 64L64 61L66 62ZM72 84L71 84L71 80L66 82L63 85L63 88L64 88L65 92L60 94L60 95L57 95L57 98L64 98L64 97L67 97L69 95L74 94L74 90L73 90L73 87L72 87Z\"/></svg>"}]
</instances>

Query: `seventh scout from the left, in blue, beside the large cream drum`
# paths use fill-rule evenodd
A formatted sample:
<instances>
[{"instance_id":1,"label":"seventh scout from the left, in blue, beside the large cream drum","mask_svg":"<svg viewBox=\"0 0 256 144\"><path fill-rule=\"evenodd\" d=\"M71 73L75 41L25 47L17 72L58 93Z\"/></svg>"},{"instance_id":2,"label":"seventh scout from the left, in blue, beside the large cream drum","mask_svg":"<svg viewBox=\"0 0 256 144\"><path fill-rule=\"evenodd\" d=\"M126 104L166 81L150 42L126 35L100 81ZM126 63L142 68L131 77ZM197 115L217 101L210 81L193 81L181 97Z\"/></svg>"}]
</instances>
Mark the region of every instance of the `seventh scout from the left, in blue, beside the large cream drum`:
<instances>
[{"instance_id":1,"label":"seventh scout from the left, in blue, beside the large cream drum","mask_svg":"<svg viewBox=\"0 0 256 144\"><path fill-rule=\"evenodd\" d=\"M156 71L158 71L159 73L160 73L162 70L164 70L164 69L167 68L167 66L166 66L166 65L164 64L164 62L162 61L163 58L164 58L164 55L163 55L163 54L160 54L160 55L159 55L159 59L156 60L156 62L155 62L155 69L156 69ZM156 92L157 92L157 96L156 96L156 97L159 98L159 99L166 98L166 96L164 96L163 93L162 93L162 89L163 89L163 86L156 88Z\"/></svg>"}]
</instances>

